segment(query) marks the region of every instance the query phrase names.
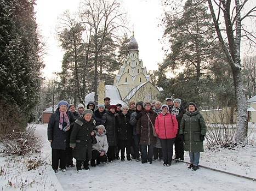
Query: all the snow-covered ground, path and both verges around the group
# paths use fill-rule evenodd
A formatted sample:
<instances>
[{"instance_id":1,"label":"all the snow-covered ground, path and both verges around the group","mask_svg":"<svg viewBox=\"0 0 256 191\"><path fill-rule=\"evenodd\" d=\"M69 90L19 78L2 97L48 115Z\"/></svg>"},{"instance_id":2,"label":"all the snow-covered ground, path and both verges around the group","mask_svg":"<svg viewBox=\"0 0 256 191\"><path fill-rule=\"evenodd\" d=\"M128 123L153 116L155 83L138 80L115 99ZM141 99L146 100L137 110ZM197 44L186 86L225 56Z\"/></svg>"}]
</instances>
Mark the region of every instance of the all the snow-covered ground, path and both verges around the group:
<instances>
[{"instance_id":1,"label":"all the snow-covered ground, path and both verges around the group","mask_svg":"<svg viewBox=\"0 0 256 191\"><path fill-rule=\"evenodd\" d=\"M1 154L0 190L256 190L253 180L202 167L191 171L186 163L175 162L167 167L160 161L149 165L114 160L80 173L76 168L67 168L66 172L55 174L50 166L47 124L38 124L36 128L44 142L40 157L45 158L45 163L27 171L26 157L13 159ZM200 165L256 179L256 147L238 145L233 149L206 150L201 153ZM187 152L185 160L189 161Z\"/></svg>"}]
</instances>

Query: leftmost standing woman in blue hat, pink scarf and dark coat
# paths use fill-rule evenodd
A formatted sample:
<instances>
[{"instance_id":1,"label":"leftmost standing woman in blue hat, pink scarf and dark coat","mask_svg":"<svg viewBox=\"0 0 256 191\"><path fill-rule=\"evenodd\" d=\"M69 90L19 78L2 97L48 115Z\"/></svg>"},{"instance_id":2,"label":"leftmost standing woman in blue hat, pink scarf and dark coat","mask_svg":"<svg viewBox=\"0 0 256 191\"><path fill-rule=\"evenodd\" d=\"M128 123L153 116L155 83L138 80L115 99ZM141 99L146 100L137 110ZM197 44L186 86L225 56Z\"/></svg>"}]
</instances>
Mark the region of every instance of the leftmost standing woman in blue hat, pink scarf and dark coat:
<instances>
[{"instance_id":1,"label":"leftmost standing woman in blue hat, pink scarf and dark coat","mask_svg":"<svg viewBox=\"0 0 256 191\"><path fill-rule=\"evenodd\" d=\"M50 116L47 128L48 141L52 147L52 166L54 172L60 169L66 171L66 148L69 147L70 130L75 122L71 111L67 110L69 104L61 100L58 109Z\"/></svg>"}]
</instances>

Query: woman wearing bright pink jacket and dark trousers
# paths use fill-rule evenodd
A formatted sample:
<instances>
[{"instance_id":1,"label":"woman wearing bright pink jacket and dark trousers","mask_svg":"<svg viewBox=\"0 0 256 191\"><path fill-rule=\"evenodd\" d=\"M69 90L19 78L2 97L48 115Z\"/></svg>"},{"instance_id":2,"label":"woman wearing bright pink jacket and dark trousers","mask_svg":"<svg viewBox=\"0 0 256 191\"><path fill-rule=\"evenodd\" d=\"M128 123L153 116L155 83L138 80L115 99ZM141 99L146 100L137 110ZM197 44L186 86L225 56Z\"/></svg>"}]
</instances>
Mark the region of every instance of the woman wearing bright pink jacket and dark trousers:
<instances>
[{"instance_id":1,"label":"woman wearing bright pink jacket and dark trousers","mask_svg":"<svg viewBox=\"0 0 256 191\"><path fill-rule=\"evenodd\" d=\"M162 106L156 118L155 128L162 146L163 165L170 166L173 158L173 144L178 133L178 122L169 112L168 105Z\"/></svg>"}]
</instances>

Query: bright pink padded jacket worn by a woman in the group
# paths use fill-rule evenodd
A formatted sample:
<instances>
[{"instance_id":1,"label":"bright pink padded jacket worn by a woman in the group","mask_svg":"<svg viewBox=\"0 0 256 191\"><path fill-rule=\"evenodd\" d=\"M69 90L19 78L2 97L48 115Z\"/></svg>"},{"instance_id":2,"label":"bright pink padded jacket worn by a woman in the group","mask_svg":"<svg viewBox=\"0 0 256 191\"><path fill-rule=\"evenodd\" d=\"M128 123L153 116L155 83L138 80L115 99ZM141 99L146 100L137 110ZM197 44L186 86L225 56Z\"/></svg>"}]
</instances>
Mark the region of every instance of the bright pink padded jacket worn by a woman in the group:
<instances>
[{"instance_id":1,"label":"bright pink padded jacket worn by a woman in the group","mask_svg":"<svg viewBox=\"0 0 256 191\"><path fill-rule=\"evenodd\" d=\"M178 122L176 117L169 112L166 115L163 115L162 112L160 112L156 117L155 129L156 134L160 139L175 138L178 133Z\"/></svg>"}]
</instances>

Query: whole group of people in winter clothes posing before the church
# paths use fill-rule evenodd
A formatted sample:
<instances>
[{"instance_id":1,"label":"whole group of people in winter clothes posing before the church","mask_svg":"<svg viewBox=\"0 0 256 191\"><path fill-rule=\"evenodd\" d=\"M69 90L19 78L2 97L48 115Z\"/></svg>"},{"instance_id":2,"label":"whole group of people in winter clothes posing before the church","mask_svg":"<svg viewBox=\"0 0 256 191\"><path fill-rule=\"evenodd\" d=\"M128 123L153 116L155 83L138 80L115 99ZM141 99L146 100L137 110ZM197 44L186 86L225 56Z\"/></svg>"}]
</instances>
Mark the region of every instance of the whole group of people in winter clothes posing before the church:
<instances>
[{"instance_id":1,"label":"whole group of people in winter clothes posing before the church","mask_svg":"<svg viewBox=\"0 0 256 191\"><path fill-rule=\"evenodd\" d=\"M128 105L111 105L109 97L98 109L94 102L68 104L61 100L48 123L48 140L52 147L52 168L75 166L77 171L89 169L100 162L115 159L152 164L163 160L170 166L173 160L184 160L189 151L192 170L198 169L200 152L206 135L206 124L195 103L185 110L180 99L166 98L166 104L130 101ZM120 158L121 153L121 158ZM126 155L125 155L126 154ZM95 163L96 161L96 163Z\"/></svg>"}]
</instances>

